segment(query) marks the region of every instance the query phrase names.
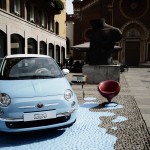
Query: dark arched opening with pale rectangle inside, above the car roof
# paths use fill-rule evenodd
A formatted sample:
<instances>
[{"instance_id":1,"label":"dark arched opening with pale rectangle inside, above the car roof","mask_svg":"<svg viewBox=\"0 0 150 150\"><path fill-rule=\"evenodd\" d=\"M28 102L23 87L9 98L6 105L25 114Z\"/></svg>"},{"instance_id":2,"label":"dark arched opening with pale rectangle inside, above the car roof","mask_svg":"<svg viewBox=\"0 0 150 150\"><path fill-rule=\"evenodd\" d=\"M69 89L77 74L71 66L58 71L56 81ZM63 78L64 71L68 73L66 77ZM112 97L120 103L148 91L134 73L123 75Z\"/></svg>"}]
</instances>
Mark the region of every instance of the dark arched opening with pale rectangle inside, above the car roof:
<instances>
[{"instance_id":1,"label":"dark arched opening with pale rectangle inside, above the car roof","mask_svg":"<svg viewBox=\"0 0 150 150\"><path fill-rule=\"evenodd\" d=\"M24 38L19 34L11 35L11 54L24 54Z\"/></svg>"}]
</instances>

